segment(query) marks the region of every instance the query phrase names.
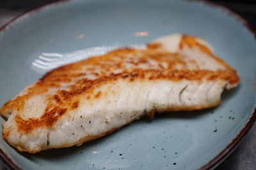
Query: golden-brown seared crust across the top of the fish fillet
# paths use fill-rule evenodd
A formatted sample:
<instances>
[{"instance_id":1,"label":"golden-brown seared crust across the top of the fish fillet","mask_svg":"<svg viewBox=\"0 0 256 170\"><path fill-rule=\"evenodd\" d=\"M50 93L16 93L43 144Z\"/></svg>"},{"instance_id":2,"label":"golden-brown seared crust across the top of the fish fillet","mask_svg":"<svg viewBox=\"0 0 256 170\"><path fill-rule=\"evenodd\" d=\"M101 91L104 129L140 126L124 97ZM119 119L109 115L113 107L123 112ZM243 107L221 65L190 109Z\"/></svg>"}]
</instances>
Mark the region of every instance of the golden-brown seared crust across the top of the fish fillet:
<instances>
[{"instance_id":1,"label":"golden-brown seared crust across the top of the fish fillet","mask_svg":"<svg viewBox=\"0 0 256 170\"><path fill-rule=\"evenodd\" d=\"M225 80L230 84L239 82L239 77L236 71L232 69L223 60L216 57L207 46L204 46L195 41L191 36L183 36L180 43L180 48L188 46L189 48L197 47L202 52L217 60L221 65L225 66L225 70L209 71L204 69L189 70L186 69L184 56L178 53L158 52L158 44L148 45L147 50L120 49L109 52L106 55L93 57L81 62L69 64L67 66L58 67L45 74L35 85L29 87L27 93L18 96L13 100L6 102L1 108L0 113L7 110L17 110L18 114L15 117L19 131L30 132L37 127L51 127L68 110L74 110L79 107L79 100L82 96L84 99L99 99L102 97L102 92L97 91L100 85L113 82L116 80L124 80L127 83L132 81L156 81L156 80ZM133 56L127 59L127 55ZM140 56L140 57L136 57ZM143 69L140 66L149 64L150 60L158 63L157 68ZM193 62L193 61L191 61ZM163 64L167 63L167 67ZM132 66L127 67L127 65ZM175 69L179 64L184 66L184 69ZM86 67L86 68L84 68ZM116 70L122 69L120 73L115 73ZM90 74L95 78L87 78ZM74 80L76 80L74 82ZM41 95L49 89L58 89L62 83L72 83L65 90L56 90L55 94L47 97L47 108L40 118L24 119L19 113L24 110L24 103L33 96ZM104 92L105 94L106 92ZM152 114L154 115L154 114ZM8 133L4 133L4 137Z\"/></svg>"}]
</instances>

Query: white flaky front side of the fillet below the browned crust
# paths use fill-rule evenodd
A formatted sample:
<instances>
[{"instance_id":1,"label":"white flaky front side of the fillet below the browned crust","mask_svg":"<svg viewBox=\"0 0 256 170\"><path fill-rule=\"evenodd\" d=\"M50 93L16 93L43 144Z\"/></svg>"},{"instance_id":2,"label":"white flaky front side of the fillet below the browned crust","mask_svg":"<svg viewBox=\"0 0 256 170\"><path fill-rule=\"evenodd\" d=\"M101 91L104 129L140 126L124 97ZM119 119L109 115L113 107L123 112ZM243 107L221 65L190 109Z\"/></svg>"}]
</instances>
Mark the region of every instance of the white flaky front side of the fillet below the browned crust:
<instances>
[{"instance_id":1,"label":"white flaky front side of the fillet below the browned crust","mask_svg":"<svg viewBox=\"0 0 256 170\"><path fill-rule=\"evenodd\" d=\"M61 117L52 129L36 129L22 135L15 131L15 113L4 124L4 129L12 128L8 141L13 146L19 146L20 150L38 152L79 145L93 136L129 124L154 109L161 112L186 110L186 107L200 109L216 106L220 104L225 84L225 81L118 81L115 85L104 85L101 89L111 87L115 94L95 101L82 101L79 108L74 110L75 113Z\"/></svg>"}]
</instances>

